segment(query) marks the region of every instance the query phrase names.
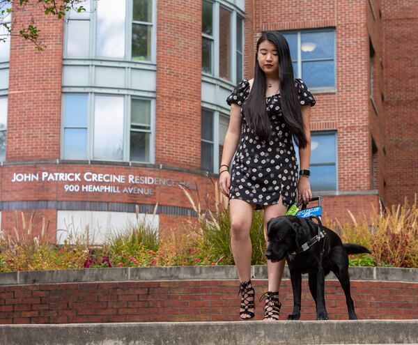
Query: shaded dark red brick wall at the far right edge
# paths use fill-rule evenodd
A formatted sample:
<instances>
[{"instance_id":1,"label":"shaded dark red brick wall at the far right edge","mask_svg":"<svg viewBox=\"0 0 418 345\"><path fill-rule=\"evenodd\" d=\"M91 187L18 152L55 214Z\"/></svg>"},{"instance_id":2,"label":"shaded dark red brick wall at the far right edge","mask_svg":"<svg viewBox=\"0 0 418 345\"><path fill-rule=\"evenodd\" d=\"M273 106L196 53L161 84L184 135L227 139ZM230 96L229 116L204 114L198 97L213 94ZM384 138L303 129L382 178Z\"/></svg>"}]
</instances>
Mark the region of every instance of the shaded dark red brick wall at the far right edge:
<instances>
[{"instance_id":1,"label":"shaded dark red brick wall at the far right edge","mask_svg":"<svg viewBox=\"0 0 418 345\"><path fill-rule=\"evenodd\" d=\"M388 204L418 192L417 1L382 1L385 107L382 114ZM388 205L389 206L389 205Z\"/></svg>"}]
</instances>

